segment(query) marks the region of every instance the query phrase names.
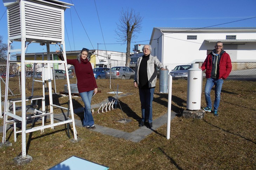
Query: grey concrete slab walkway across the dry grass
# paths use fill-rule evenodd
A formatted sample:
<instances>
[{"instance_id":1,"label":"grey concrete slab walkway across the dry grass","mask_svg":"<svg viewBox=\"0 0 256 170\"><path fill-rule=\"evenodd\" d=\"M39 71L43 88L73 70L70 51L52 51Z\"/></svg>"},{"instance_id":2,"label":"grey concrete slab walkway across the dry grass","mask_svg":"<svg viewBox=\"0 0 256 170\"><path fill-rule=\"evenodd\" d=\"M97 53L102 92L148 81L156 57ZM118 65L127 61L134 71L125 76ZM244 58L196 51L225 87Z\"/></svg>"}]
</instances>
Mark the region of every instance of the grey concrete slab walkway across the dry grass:
<instances>
[{"instance_id":1,"label":"grey concrete slab walkway across the dry grass","mask_svg":"<svg viewBox=\"0 0 256 170\"><path fill-rule=\"evenodd\" d=\"M111 101L111 100L112 100L112 98L109 98L109 99L106 99L105 101L101 102L100 104L92 105L92 109L99 108L101 104L106 103L106 102ZM18 107L18 106L16 106L16 107ZM29 109L27 112L33 113L33 110ZM83 112L83 108L74 109L74 114L81 113L81 112ZM96 110L94 111L94 114L97 114ZM175 114L176 114L175 112L171 112L171 120L175 117ZM55 121L64 121L67 117L67 112L58 113L58 114L54 113L53 115L54 115L54 120ZM49 116L47 116L47 118L49 118ZM147 128L146 126L143 126L143 127L139 127L137 130L135 130L131 133L123 132L123 131L120 131L120 130L116 130L116 129L113 129L113 128L108 128L108 127L100 126L100 125L96 125L96 124L95 124L96 129L91 129L90 131L102 133L102 134L105 134L105 135L114 136L116 138L122 138L122 139L125 139L125 140L130 140L130 141L133 141L133 142L140 142L141 140L145 139L147 137L147 135L149 135L153 132L157 133L156 129L159 128L160 126L166 124L166 123L167 123L167 113L164 114L163 116L159 117L159 118L154 119L152 128ZM127 125L129 125L129 123ZM76 127L82 127L82 121L78 120L78 119L75 119L75 126ZM9 128L13 128L13 125L11 125L11 126L7 125L7 129L9 129ZM0 127L0 132L3 132L3 126ZM164 135L166 135L166 134L164 134Z\"/></svg>"}]
</instances>

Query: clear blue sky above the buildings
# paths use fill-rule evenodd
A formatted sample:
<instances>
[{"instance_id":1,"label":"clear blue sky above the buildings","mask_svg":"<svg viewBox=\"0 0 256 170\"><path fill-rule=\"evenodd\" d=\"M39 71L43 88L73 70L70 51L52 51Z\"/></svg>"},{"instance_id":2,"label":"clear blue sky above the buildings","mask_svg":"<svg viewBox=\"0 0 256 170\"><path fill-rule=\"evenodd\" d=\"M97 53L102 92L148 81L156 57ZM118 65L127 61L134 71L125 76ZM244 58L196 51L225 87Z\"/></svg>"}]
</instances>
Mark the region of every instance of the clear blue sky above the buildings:
<instances>
[{"instance_id":1,"label":"clear blue sky above the buildings","mask_svg":"<svg viewBox=\"0 0 256 170\"><path fill-rule=\"evenodd\" d=\"M256 0L62 1L68 3L73 2L74 4L70 9L65 10L65 24L67 27L65 30L66 51L81 50L83 47L97 49L97 43L99 43L100 50L126 52L126 44L112 44L120 43L117 42L117 36L115 35L114 30L117 28L116 23L119 23L121 8L133 8L135 12L139 12L143 17L141 33L138 34L136 39L132 39L132 42L137 43L131 43L131 50L135 44L148 44L154 27L209 27L217 24L222 25L216 27L256 27L256 18L238 21L256 17ZM0 3L0 17L2 17L5 10L6 7L4 6L4 3ZM80 17L83 26L78 16ZM6 13L0 20L0 25L0 35L3 37L3 42L7 43ZM103 45L104 41L102 33L105 43L107 43L106 49L105 45ZM256 37L252 37L252 39L256 39ZM14 48L19 49L20 45L15 46L14 44ZM50 50L55 51L56 49L51 48ZM46 52L46 47L40 46L39 44L30 45L27 53L30 52Z\"/></svg>"}]
</instances>

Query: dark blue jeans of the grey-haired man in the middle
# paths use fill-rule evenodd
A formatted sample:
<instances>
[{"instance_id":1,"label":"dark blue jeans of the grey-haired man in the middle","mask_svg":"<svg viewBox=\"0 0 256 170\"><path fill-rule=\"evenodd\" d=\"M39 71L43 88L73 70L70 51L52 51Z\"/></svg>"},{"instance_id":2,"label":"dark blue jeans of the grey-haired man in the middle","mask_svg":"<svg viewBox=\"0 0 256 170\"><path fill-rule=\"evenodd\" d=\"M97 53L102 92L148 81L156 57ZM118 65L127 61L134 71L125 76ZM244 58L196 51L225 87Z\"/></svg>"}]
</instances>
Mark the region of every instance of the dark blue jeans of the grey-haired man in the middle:
<instances>
[{"instance_id":1,"label":"dark blue jeans of the grey-haired man in the middle","mask_svg":"<svg viewBox=\"0 0 256 170\"><path fill-rule=\"evenodd\" d=\"M152 102L153 102L154 91L155 91L155 88L151 88L151 89L139 88L142 122L148 121L148 123L152 123Z\"/></svg>"}]
</instances>

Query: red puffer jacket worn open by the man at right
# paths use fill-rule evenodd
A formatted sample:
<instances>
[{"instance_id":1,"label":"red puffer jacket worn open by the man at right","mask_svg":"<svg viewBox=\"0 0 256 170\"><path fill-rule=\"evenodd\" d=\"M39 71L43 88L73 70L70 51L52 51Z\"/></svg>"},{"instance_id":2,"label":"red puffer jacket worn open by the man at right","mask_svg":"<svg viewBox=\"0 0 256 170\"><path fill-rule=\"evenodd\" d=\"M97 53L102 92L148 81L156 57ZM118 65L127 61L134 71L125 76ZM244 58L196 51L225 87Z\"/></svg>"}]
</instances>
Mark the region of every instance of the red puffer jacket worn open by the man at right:
<instances>
[{"instance_id":1,"label":"red puffer jacket worn open by the man at right","mask_svg":"<svg viewBox=\"0 0 256 170\"><path fill-rule=\"evenodd\" d=\"M211 77L211 67L212 67L212 54L208 54L204 60L201 69L204 71L206 69L206 78ZM232 70L231 59L228 53L224 51L221 56L219 64L219 79L227 79Z\"/></svg>"}]
</instances>

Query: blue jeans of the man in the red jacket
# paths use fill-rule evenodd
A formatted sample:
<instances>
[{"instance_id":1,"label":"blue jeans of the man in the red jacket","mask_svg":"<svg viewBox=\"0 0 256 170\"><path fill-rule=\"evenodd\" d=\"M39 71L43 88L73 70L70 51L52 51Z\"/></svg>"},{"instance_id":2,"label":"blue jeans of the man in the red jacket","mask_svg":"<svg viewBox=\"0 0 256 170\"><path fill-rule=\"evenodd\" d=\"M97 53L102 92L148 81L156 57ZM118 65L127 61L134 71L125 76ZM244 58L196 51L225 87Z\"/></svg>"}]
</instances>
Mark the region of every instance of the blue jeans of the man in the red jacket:
<instances>
[{"instance_id":1,"label":"blue jeans of the man in the red jacket","mask_svg":"<svg viewBox=\"0 0 256 170\"><path fill-rule=\"evenodd\" d=\"M215 100L213 105L213 111L218 111L221 100L221 88L223 80L222 79L212 79L208 78L206 80L206 87L204 88L204 96L206 98L206 104L208 108L211 108L211 88L215 85Z\"/></svg>"}]
</instances>

